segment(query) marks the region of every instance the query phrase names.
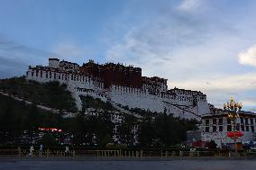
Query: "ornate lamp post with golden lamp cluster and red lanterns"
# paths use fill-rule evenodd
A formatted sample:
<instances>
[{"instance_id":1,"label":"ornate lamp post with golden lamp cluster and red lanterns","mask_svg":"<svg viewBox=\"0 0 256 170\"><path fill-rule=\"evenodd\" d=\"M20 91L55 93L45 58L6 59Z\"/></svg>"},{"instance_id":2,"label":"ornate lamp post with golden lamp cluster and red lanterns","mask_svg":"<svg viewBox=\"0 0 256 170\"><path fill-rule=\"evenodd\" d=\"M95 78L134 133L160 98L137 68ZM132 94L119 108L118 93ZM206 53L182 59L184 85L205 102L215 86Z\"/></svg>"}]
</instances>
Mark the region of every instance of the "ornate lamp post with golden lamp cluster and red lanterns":
<instances>
[{"instance_id":1,"label":"ornate lamp post with golden lamp cluster and red lanterns","mask_svg":"<svg viewBox=\"0 0 256 170\"><path fill-rule=\"evenodd\" d=\"M233 97L231 97L230 102L224 103L224 112L227 113L227 119L231 121L232 124L232 136L234 141L234 152L235 156L237 156L237 146L236 146L236 140L242 136L241 132L236 131L236 120L239 118L239 112L242 109L242 103L236 103L233 100Z\"/></svg>"}]
</instances>

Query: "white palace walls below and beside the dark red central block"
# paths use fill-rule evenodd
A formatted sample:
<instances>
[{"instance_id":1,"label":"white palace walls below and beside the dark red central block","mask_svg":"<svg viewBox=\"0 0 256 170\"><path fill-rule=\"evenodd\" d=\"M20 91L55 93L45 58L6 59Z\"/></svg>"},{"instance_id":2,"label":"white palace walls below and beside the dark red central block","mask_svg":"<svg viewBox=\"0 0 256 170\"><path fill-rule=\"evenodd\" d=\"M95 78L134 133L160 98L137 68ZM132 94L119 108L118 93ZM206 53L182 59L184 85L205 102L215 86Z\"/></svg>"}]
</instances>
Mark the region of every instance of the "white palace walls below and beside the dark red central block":
<instances>
[{"instance_id":1,"label":"white palace walls below and beside the dark red central block","mask_svg":"<svg viewBox=\"0 0 256 170\"><path fill-rule=\"evenodd\" d=\"M181 89L167 90L164 84L153 94L151 85L147 84L141 88L122 85L110 85L105 88L103 81L97 77L79 75L55 67L29 67L26 79L39 83L58 81L67 85L67 89L76 100L78 110L82 109L79 95L89 95L104 102L110 100L129 108L167 112L188 119L197 118L193 112L197 115L209 112L205 94Z\"/></svg>"}]
</instances>

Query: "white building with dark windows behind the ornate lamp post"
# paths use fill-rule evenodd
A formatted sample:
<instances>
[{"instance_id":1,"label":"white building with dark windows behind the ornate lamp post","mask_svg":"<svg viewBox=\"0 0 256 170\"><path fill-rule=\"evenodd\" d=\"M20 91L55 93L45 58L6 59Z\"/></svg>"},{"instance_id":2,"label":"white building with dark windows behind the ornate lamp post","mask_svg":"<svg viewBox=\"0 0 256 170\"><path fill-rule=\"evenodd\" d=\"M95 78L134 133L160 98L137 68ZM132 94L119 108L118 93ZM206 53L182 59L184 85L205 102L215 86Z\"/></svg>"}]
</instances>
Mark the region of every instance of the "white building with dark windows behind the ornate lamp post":
<instances>
[{"instance_id":1,"label":"white building with dark windows behind the ornate lamp post","mask_svg":"<svg viewBox=\"0 0 256 170\"><path fill-rule=\"evenodd\" d=\"M227 113L221 109L215 109L211 114L202 115L199 130L187 131L187 142L214 140L220 148L225 144L232 144L233 139L227 137L229 131L233 131L232 122L227 118ZM242 131L243 136L237 142L247 142L256 139L256 113L240 112L235 129Z\"/></svg>"}]
</instances>

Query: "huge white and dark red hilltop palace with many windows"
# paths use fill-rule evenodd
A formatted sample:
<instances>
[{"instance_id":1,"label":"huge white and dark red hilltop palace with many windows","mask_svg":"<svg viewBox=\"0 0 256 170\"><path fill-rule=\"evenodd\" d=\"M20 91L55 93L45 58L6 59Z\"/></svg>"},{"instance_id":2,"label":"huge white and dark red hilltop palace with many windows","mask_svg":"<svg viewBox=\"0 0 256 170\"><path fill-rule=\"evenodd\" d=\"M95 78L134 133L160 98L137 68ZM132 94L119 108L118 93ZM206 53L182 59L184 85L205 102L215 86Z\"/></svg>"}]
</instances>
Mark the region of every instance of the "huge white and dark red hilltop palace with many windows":
<instances>
[{"instance_id":1,"label":"huge white and dark red hilltop palace with many windows","mask_svg":"<svg viewBox=\"0 0 256 170\"><path fill-rule=\"evenodd\" d=\"M100 98L113 105L167 112L181 118L198 118L210 112L206 94L185 89L168 89L167 79L142 76L142 68L122 64L97 64L89 60L81 67L76 63L49 58L49 66L29 67L27 80L67 85L82 109L81 95Z\"/></svg>"}]
</instances>

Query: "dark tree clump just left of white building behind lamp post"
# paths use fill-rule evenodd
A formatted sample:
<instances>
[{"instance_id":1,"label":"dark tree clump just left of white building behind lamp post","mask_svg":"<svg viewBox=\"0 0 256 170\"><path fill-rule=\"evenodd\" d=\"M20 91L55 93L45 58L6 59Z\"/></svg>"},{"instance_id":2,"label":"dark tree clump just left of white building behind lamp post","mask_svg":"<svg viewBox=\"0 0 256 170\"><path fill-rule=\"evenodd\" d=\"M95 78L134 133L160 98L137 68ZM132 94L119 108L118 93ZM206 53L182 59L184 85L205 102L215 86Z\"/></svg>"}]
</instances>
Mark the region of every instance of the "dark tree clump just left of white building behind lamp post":
<instances>
[{"instance_id":1,"label":"dark tree clump just left of white building behind lamp post","mask_svg":"<svg viewBox=\"0 0 256 170\"><path fill-rule=\"evenodd\" d=\"M197 121L166 113L157 114L154 119L146 116L141 122L139 142L142 147L170 147L186 141L187 130L197 130Z\"/></svg>"}]
</instances>

